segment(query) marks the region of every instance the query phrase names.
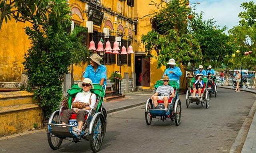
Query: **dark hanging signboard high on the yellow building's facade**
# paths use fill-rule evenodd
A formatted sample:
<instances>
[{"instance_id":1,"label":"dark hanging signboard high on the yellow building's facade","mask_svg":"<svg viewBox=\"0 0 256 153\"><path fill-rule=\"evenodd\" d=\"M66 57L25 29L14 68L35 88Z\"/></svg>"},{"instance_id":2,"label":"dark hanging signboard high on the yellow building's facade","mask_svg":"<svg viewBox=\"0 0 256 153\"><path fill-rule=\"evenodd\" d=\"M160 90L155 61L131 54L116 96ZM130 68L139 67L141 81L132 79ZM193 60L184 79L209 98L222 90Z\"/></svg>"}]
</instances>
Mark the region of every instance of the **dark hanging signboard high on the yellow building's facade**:
<instances>
[{"instance_id":1,"label":"dark hanging signboard high on the yellow building's facade","mask_svg":"<svg viewBox=\"0 0 256 153\"><path fill-rule=\"evenodd\" d=\"M101 26L104 12L101 12L95 8L89 8L89 12L89 21L93 21L93 24Z\"/></svg>"}]
</instances>

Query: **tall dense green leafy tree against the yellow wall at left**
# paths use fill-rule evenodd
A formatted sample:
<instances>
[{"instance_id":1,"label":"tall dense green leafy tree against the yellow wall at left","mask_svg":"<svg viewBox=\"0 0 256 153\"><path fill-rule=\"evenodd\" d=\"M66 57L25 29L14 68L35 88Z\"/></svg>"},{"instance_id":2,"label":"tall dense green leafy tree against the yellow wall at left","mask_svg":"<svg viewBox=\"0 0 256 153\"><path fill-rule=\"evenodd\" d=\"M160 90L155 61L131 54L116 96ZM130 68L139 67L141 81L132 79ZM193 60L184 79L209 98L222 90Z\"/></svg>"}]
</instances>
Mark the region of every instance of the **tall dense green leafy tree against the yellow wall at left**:
<instances>
[{"instance_id":1,"label":"tall dense green leafy tree against the yellow wall at left","mask_svg":"<svg viewBox=\"0 0 256 153\"><path fill-rule=\"evenodd\" d=\"M71 23L66 0L45 2L37 5L36 10L46 12L21 13L20 18L34 21L32 27L25 29L32 47L25 54L23 64L28 73L28 88L34 91L44 117L49 118L62 98L63 75L72 63L73 43L66 32Z\"/></svg>"}]
</instances>

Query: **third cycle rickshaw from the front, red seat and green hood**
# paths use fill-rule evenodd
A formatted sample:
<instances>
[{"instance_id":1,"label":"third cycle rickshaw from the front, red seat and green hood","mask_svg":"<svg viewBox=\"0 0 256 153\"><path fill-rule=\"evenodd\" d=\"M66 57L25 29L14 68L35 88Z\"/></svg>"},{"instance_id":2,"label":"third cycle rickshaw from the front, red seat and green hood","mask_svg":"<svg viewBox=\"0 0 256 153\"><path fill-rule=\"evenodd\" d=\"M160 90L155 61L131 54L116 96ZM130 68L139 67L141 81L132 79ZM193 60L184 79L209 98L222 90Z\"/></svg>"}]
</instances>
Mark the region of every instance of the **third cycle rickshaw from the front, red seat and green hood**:
<instances>
[{"instance_id":1,"label":"third cycle rickshaw from the front, red seat and green hood","mask_svg":"<svg viewBox=\"0 0 256 153\"><path fill-rule=\"evenodd\" d=\"M197 105L201 104L202 106L204 106L204 104L206 104L206 108L209 108L210 93L206 88L208 80L206 77L204 77L203 81L204 81L204 87L202 88L201 96L198 96L198 91L196 91L196 96L191 96L193 94L193 88L195 86L194 83L196 82L195 78L191 79L190 86L188 87L188 90L186 92L187 108L190 107L190 103L195 103Z\"/></svg>"}]
</instances>

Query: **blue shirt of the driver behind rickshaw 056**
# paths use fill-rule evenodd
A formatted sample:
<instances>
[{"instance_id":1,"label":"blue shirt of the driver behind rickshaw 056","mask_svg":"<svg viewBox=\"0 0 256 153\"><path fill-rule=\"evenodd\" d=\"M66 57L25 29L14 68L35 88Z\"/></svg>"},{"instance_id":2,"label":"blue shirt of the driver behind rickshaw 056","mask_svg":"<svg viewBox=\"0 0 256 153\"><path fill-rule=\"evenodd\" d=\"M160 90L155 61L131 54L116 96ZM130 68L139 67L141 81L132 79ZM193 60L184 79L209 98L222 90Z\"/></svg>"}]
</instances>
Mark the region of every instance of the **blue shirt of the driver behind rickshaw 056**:
<instances>
[{"instance_id":1,"label":"blue shirt of the driver behind rickshaw 056","mask_svg":"<svg viewBox=\"0 0 256 153\"><path fill-rule=\"evenodd\" d=\"M107 68L105 65L98 65L96 72L92 65L88 65L85 69L84 78L90 78L92 83L100 83L100 80L104 78L104 84L107 84Z\"/></svg>"}]
</instances>

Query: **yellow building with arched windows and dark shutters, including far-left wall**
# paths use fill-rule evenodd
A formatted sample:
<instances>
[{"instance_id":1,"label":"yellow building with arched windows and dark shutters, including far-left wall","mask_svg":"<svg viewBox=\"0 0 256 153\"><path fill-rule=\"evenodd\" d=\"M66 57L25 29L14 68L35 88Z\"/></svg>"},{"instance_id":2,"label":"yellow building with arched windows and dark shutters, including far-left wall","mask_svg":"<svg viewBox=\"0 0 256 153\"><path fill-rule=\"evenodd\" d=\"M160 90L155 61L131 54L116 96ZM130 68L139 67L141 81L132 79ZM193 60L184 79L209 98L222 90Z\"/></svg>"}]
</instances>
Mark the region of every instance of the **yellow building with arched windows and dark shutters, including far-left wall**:
<instances>
[{"instance_id":1,"label":"yellow building with arched windows and dark shutters, including far-left wall","mask_svg":"<svg viewBox=\"0 0 256 153\"><path fill-rule=\"evenodd\" d=\"M96 48L100 39L104 44L118 41L120 48L132 45L133 54L102 55L102 62L107 67L109 77L120 71L122 77L128 73L129 78L136 74L136 86L144 89L153 88L156 80L162 77L165 66L156 69L156 59L145 58L145 49L141 43L141 35L152 29L149 17L142 18L153 11L155 6L149 5L151 0L69 0L72 12L72 26L88 28L87 46L94 41ZM155 2L161 0L155 0ZM24 54L30 47L24 27L29 24L15 22L13 19L4 22L0 29L0 82L21 82L24 67ZM120 64L121 63L121 64ZM74 81L82 78L87 64L74 68ZM140 77L141 76L141 77Z\"/></svg>"}]
</instances>

